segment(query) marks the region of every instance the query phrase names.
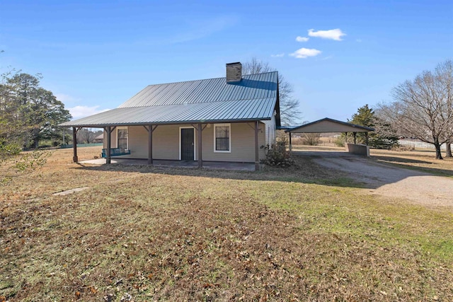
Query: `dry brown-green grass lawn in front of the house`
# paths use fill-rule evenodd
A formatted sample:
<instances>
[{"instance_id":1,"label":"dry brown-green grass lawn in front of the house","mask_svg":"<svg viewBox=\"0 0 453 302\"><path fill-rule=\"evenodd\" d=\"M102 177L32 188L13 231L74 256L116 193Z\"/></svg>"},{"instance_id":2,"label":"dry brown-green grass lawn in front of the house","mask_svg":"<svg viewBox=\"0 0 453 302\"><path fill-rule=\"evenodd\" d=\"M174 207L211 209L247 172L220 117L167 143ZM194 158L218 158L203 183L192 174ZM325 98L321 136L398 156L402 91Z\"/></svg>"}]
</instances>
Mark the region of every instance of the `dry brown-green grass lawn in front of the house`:
<instances>
[{"instance_id":1,"label":"dry brown-green grass lawn in front of the house","mask_svg":"<svg viewBox=\"0 0 453 302\"><path fill-rule=\"evenodd\" d=\"M251 173L71 152L0 185L0 301L453 301L452 208L307 158Z\"/></svg>"}]
</instances>

